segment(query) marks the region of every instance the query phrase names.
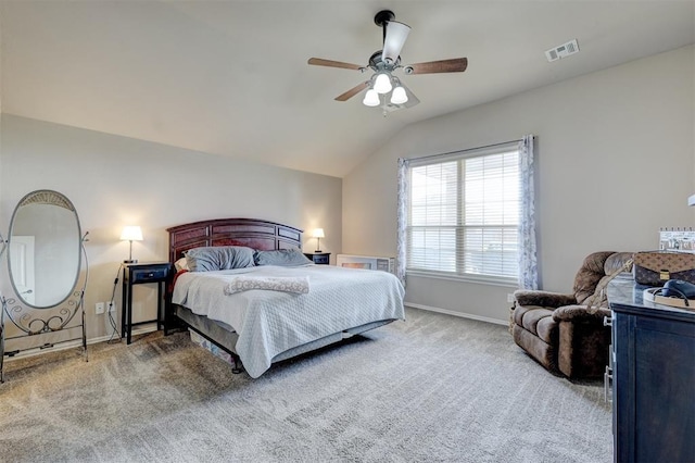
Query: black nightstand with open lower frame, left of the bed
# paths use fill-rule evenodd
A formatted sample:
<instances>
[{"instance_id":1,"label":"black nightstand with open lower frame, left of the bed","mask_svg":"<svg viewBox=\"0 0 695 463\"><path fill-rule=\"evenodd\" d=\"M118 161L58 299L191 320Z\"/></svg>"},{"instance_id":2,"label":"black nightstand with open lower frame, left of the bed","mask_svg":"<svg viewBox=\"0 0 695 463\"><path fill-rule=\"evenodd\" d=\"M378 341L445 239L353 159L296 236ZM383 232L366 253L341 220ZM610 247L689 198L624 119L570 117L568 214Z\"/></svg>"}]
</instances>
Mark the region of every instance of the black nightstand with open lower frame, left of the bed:
<instances>
[{"instance_id":1,"label":"black nightstand with open lower frame, left of the bed","mask_svg":"<svg viewBox=\"0 0 695 463\"><path fill-rule=\"evenodd\" d=\"M172 264L168 262L150 262L123 264L123 311L121 314L121 337L130 343L134 325L156 322L156 328L164 326L165 285L169 279ZM156 320L132 323L132 285L146 283L157 284Z\"/></svg>"}]
</instances>

